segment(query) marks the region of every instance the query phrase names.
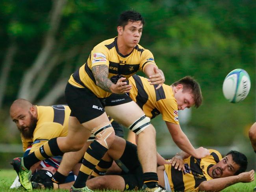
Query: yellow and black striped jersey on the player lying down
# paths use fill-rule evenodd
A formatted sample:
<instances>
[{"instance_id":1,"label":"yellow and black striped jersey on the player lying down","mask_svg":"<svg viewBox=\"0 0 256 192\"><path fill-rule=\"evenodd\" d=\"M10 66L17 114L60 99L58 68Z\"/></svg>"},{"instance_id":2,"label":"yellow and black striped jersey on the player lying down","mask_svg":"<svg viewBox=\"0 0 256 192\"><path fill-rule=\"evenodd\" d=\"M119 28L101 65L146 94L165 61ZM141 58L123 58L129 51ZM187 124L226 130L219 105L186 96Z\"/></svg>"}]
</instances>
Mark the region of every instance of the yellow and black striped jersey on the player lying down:
<instances>
[{"instance_id":1,"label":"yellow and black striped jersey on the player lying down","mask_svg":"<svg viewBox=\"0 0 256 192\"><path fill-rule=\"evenodd\" d=\"M165 164L165 172L168 176L172 191L198 191L198 186L203 181L213 179L208 174L208 169L222 159L219 151L210 150L210 155L202 159L190 156L184 159L184 172L174 169L171 164Z\"/></svg>"}]
</instances>

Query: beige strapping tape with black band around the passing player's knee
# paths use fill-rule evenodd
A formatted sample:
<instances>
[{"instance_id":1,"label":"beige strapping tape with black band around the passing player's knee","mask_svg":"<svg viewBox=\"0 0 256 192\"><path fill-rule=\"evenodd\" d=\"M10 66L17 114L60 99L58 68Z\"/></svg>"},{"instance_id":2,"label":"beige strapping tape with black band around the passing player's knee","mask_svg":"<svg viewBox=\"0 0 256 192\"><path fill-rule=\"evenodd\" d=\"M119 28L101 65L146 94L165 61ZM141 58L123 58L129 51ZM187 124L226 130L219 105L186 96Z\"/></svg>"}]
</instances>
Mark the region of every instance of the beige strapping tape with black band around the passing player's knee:
<instances>
[{"instance_id":1,"label":"beige strapping tape with black band around the passing player's knee","mask_svg":"<svg viewBox=\"0 0 256 192\"><path fill-rule=\"evenodd\" d=\"M111 133L113 132L114 129L111 124L107 126L95 127L92 131L93 135L95 135L96 141L99 142L102 146L106 147L107 149L109 147L106 140L109 137L109 135L111 135Z\"/></svg>"}]
</instances>

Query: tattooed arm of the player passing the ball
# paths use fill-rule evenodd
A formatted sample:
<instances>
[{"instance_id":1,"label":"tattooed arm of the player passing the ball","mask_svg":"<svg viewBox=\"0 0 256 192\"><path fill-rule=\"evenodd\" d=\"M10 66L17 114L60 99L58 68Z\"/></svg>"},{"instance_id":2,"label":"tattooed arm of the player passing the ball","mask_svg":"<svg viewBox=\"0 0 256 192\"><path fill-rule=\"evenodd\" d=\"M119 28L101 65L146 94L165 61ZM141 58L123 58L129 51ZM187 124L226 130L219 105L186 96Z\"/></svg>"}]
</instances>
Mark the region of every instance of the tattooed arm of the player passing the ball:
<instances>
[{"instance_id":1,"label":"tattooed arm of the player passing the ball","mask_svg":"<svg viewBox=\"0 0 256 192\"><path fill-rule=\"evenodd\" d=\"M108 78L108 66L107 65L96 65L91 68L93 76L96 80L96 85L101 89L111 92L110 86L113 84Z\"/></svg>"}]
</instances>

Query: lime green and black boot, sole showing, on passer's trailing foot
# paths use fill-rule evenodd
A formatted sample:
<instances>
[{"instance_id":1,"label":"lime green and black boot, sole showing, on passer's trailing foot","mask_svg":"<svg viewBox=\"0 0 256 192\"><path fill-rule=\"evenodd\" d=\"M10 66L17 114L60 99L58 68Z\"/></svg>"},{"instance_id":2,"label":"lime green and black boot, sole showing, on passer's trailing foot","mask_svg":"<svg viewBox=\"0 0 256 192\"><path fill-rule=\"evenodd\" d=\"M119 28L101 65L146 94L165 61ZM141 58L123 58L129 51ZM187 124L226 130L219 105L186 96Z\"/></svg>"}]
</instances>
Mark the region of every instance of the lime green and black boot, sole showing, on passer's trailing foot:
<instances>
[{"instance_id":1,"label":"lime green and black boot, sole showing, on passer's trailing foot","mask_svg":"<svg viewBox=\"0 0 256 192\"><path fill-rule=\"evenodd\" d=\"M31 170L28 170L24 166L23 157L17 157L11 161L13 169L19 176L20 184L28 191L32 190L32 184L30 182Z\"/></svg>"}]
</instances>

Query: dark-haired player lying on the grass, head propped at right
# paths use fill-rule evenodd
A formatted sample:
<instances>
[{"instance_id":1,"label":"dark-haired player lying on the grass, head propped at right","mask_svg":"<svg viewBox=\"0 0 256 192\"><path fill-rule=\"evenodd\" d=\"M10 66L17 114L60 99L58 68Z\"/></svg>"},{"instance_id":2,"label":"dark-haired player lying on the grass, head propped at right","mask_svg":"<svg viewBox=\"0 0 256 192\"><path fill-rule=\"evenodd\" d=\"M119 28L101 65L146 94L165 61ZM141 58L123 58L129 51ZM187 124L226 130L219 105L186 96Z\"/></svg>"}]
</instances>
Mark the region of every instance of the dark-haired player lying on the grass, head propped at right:
<instances>
[{"instance_id":1,"label":"dark-haired player lying on the grass, head propped at right","mask_svg":"<svg viewBox=\"0 0 256 192\"><path fill-rule=\"evenodd\" d=\"M142 169L137 157L137 146L116 137L104 161L119 159L123 171L119 175L104 175L87 180L90 189L138 190L142 187ZM167 163L167 162L166 162ZM216 150L197 159L185 153L177 153L168 164L158 166L159 184L167 191L220 191L235 183L254 180L254 170L245 172L247 157L238 151L230 151L224 158ZM97 167L98 171L101 170ZM127 170L129 170L127 172ZM115 181L115 182L113 182ZM46 186L49 184L44 183ZM60 184L59 188L70 188L72 183ZM44 188L44 185L33 183ZM56 187L56 188L58 188Z\"/></svg>"}]
</instances>

